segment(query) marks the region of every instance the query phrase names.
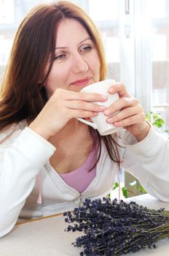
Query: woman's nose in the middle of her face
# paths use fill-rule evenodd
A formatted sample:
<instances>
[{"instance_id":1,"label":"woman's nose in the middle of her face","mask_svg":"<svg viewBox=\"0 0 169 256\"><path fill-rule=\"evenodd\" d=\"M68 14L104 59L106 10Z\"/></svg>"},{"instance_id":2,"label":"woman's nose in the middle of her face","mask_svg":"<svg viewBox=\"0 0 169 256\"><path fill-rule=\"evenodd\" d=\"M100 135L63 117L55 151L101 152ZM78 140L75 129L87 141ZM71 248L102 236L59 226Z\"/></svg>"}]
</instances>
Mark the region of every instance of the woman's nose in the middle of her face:
<instances>
[{"instance_id":1,"label":"woman's nose in the middle of her face","mask_svg":"<svg viewBox=\"0 0 169 256\"><path fill-rule=\"evenodd\" d=\"M72 63L72 70L74 73L87 72L88 69L87 61L85 61L80 54L74 56Z\"/></svg>"}]
</instances>

